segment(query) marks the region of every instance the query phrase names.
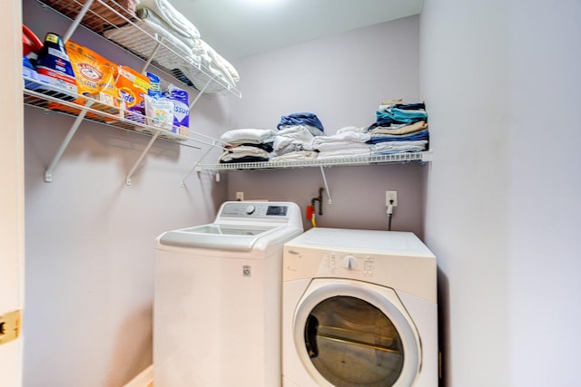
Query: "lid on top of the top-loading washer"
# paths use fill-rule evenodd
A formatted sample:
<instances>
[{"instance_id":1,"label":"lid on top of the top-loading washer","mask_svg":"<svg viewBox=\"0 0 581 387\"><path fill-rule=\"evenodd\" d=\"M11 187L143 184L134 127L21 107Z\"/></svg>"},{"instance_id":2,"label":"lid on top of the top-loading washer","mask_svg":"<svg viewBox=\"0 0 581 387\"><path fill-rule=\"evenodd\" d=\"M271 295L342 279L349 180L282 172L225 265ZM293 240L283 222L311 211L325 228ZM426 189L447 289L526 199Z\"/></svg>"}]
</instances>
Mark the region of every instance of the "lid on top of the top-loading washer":
<instances>
[{"instance_id":1,"label":"lid on top of the top-loading washer","mask_svg":"<svg viewBox=\"0 0 581 387\"><path fill-rule=\"evenodd\" d=\"M160 237L161 245L250 251L256 241L280 226L209 224L168 231Z\"/></svg>"}]
</instances>

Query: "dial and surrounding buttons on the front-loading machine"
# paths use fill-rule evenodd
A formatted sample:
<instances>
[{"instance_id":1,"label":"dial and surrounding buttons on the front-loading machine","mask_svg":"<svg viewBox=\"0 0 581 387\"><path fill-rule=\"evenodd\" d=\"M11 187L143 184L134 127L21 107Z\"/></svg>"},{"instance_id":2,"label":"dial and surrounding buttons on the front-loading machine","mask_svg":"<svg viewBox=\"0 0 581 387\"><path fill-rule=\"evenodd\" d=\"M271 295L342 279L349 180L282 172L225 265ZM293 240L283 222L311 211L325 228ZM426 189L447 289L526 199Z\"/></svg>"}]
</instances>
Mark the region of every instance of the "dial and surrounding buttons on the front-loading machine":
<instances>
[{"instance_id":1,"label":"dial and surrounding buttons on the front-loading machine","mask_svg":"<svg viewBox=\"0 0 581 387\"><path fill-rule=\"evenodd\" d=\"M321 263L321 271L333 276L372 277L375 257L352 253L327 252Z\"/></svg>"}]
</instances>

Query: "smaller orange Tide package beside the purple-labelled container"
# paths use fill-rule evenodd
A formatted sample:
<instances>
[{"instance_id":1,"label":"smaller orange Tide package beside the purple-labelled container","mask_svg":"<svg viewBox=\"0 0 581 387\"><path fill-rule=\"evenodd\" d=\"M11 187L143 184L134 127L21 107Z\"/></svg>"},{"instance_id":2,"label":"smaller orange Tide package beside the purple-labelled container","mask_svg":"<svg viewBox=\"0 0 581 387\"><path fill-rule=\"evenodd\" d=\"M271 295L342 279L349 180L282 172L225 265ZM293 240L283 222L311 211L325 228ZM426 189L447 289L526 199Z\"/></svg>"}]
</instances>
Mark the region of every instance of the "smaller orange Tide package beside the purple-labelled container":
<instances>
[{"instance_id":1,"label":"smaller orange Tide package beside the purple-labelled container","mask_svg":"<svg viewBox=\"0 0 581 387\"><path fill-rule=\"evenodd\" d=\"M145 96L150 88L149 78L131 67L119 66L117 92L124 103L125 118L145 122Z\"/></svg>"}]
</instances>

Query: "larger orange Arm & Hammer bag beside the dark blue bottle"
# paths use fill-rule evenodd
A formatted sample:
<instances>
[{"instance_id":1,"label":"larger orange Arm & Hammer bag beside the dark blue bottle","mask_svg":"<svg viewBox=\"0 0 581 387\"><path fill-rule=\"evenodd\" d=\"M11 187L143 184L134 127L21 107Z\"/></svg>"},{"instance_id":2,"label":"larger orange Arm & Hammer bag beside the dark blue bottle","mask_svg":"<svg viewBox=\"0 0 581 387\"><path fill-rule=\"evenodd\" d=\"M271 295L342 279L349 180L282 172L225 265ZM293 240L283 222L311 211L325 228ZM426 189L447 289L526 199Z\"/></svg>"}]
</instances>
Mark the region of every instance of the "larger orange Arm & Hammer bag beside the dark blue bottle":
<instances>
[{"instance_id":1,"label":"larger orange Arm & Hammer bag beside the dark blue bottle","mask_svg":"<svg viewBox=\"0 0 581 387\"><path fill-rule=\"evenodd\" d=\"M115 78L118 73L117 64L104 58L99 53L72 41L65 44L66 53L73 66L74 77L77 82L78 93L89 98L77 98L74 103L86 105L91 101L91 108L104 111L118 116L120 114L120 101L115 85ZM52 103L50 109L79 113L79 110L64 106L59 103ZM89 111L87 117L99 121L113 121L107 116Z\"/></svg>"}]
</instances>

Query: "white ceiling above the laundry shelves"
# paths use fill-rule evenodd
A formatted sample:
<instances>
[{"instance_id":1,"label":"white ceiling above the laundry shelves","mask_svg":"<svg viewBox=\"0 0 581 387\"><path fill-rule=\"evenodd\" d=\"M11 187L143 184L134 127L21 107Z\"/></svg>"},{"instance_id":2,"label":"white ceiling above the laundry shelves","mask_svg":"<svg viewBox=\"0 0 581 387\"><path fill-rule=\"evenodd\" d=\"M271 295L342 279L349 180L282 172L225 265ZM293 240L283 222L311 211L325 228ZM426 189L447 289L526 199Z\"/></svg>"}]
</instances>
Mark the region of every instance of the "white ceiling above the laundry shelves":
<instances>
[{"instance_id":1,"label":"white ceiling above the laundry shelves","mask_svg":"<svg viewBox=\"0 0 581 387\"><path fill-rule=\"evenodd\" d=\"M229 61L418 15L422 0L170 0Z\"/></svg>"}]
</instances>

